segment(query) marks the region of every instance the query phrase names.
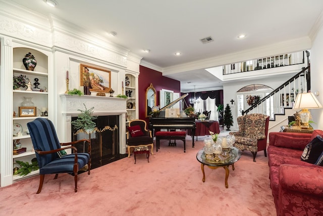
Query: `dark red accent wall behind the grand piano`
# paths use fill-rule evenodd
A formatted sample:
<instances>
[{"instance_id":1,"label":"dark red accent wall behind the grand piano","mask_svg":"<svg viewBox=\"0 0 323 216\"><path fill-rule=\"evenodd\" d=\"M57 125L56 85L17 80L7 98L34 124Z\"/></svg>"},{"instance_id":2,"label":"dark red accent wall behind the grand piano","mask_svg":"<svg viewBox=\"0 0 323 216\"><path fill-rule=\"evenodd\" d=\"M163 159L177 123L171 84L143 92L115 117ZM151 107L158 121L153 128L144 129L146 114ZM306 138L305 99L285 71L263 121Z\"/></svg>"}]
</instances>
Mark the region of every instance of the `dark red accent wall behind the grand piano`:
<instances>
[{"instance_id":1,"label":"dark red accent wall behind the grand piano","mask_svg":"<svg viewBox=\"0 0 323 216\"><path fill-rule=\"evenodd\" d=\"M167 89L174 91L175 93L181 92L181 82L175 79L168 78L163 76L161 72L144 67L139 66L139 77L138 77L138 95L139 95L139 119L146 120L149 123L149 119L146 118L145 113L145 94L146 89L149 87L150 83L152 83L153 87L156 90L156 104L159 105L159 91L161 89ZM147 125L148 126L148 125Z\"/></svg>"}]
</instances>

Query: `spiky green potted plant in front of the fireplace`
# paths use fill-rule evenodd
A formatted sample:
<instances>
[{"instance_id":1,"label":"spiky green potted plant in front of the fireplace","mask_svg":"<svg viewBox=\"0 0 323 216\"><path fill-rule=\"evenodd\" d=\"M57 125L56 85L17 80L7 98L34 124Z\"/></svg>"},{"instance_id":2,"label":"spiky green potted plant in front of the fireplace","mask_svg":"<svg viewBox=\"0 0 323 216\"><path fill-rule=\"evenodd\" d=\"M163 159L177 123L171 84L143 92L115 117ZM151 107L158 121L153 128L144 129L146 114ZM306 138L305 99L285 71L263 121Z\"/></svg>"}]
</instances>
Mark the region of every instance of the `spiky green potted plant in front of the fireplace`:
<instances>
[{"instance_id":1,"label":"spiky green potted plant in front of the fireplace","mask_svg":"<svg viewBox=\"0 0 323 216\"><path fill-rule=\"evenodd\" d=\"M78 115L77 119L72 121L71 123L77 130L83 130L84 133L86 133L87 130L93 131L95 125L95 122L93 121L94 119L97 118L97 116L92 116L93 114L93 109L87 109L85 104L83 104L85 107L85 110L80 110L78 111L81 112L81 114Z\"/></svg>"}]
</instances>

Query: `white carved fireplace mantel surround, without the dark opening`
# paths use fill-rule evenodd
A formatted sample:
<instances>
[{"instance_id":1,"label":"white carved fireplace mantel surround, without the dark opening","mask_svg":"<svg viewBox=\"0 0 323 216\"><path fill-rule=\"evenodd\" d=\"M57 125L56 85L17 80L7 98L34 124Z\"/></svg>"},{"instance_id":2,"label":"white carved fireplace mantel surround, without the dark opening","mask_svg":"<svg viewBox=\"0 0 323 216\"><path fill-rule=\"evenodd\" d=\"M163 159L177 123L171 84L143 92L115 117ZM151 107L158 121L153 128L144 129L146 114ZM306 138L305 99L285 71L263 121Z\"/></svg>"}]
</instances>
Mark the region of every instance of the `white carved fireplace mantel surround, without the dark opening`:
<instances>
[{"instance_id":1,"label":"white carved fireplace mantel surround, without the dark opening","mask_svg":"<svg viewBox=\"0 0 323 216\"><path fill-rule=\"evenodd\" d=\"M60 95L62 101L62 114L63 120L66 122L65 140L71 141L71 120L72 117L77 116L81 112L94 107L93 115L119 115L119 140L120 140L120 154L126 153L126 113L127 113L127 100L117 97L104 97L92 95Z\"/></svg>"}]
</instances>

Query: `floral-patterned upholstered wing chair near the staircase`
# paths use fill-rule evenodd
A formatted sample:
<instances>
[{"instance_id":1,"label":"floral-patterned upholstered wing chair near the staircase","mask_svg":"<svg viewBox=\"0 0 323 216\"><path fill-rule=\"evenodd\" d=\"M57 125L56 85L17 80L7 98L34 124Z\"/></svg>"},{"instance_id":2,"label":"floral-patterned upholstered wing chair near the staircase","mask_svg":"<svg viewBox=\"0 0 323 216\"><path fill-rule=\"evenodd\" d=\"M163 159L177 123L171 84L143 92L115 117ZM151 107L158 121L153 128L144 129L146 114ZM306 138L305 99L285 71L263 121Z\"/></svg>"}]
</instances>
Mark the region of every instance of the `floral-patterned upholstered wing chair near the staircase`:
<instances>
[{"instance_id":1,"label":"floral-patterned upholstered wing chair near the staircase","mask_svg":"<svg viewBox=\"0 0 323 216\"><path fill-rule=\"evenodd\" d=\"M258 151L264 151L264 156L267 157L266 147L269 116L252 113L239 116L237 122L239 131L230 132L236 138L236 142L233 145L241 151L250 151L253 155L254 162L256 162L255 158Z\"/></svg>"}]
</instances>

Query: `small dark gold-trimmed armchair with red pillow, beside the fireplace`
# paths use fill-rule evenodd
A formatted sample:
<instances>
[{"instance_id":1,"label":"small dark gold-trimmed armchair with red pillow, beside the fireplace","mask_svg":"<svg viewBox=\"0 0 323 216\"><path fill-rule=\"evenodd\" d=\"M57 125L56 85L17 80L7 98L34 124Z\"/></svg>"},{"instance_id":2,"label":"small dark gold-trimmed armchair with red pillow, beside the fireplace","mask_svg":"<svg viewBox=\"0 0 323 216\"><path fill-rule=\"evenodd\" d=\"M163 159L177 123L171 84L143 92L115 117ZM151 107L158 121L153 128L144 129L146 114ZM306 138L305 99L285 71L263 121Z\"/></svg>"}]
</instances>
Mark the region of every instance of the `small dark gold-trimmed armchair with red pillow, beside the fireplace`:
<instances>
[{"instance_id":1,"label":"small dark gold-trimmed armchair with red pillow, beside the fireplace","mask_svg":"<svg viewBox=\"0 0 323 216\"><path fill-rule=\"evenodd\" d=\"M130 157L131 148L141 146L150 146L150 151L153 155L153 138L151 135L151 131L146 129L146 121L141 119L129 121L129 127L127 132L127 145L128 157Z\"/></svg>"}]
</instances>

